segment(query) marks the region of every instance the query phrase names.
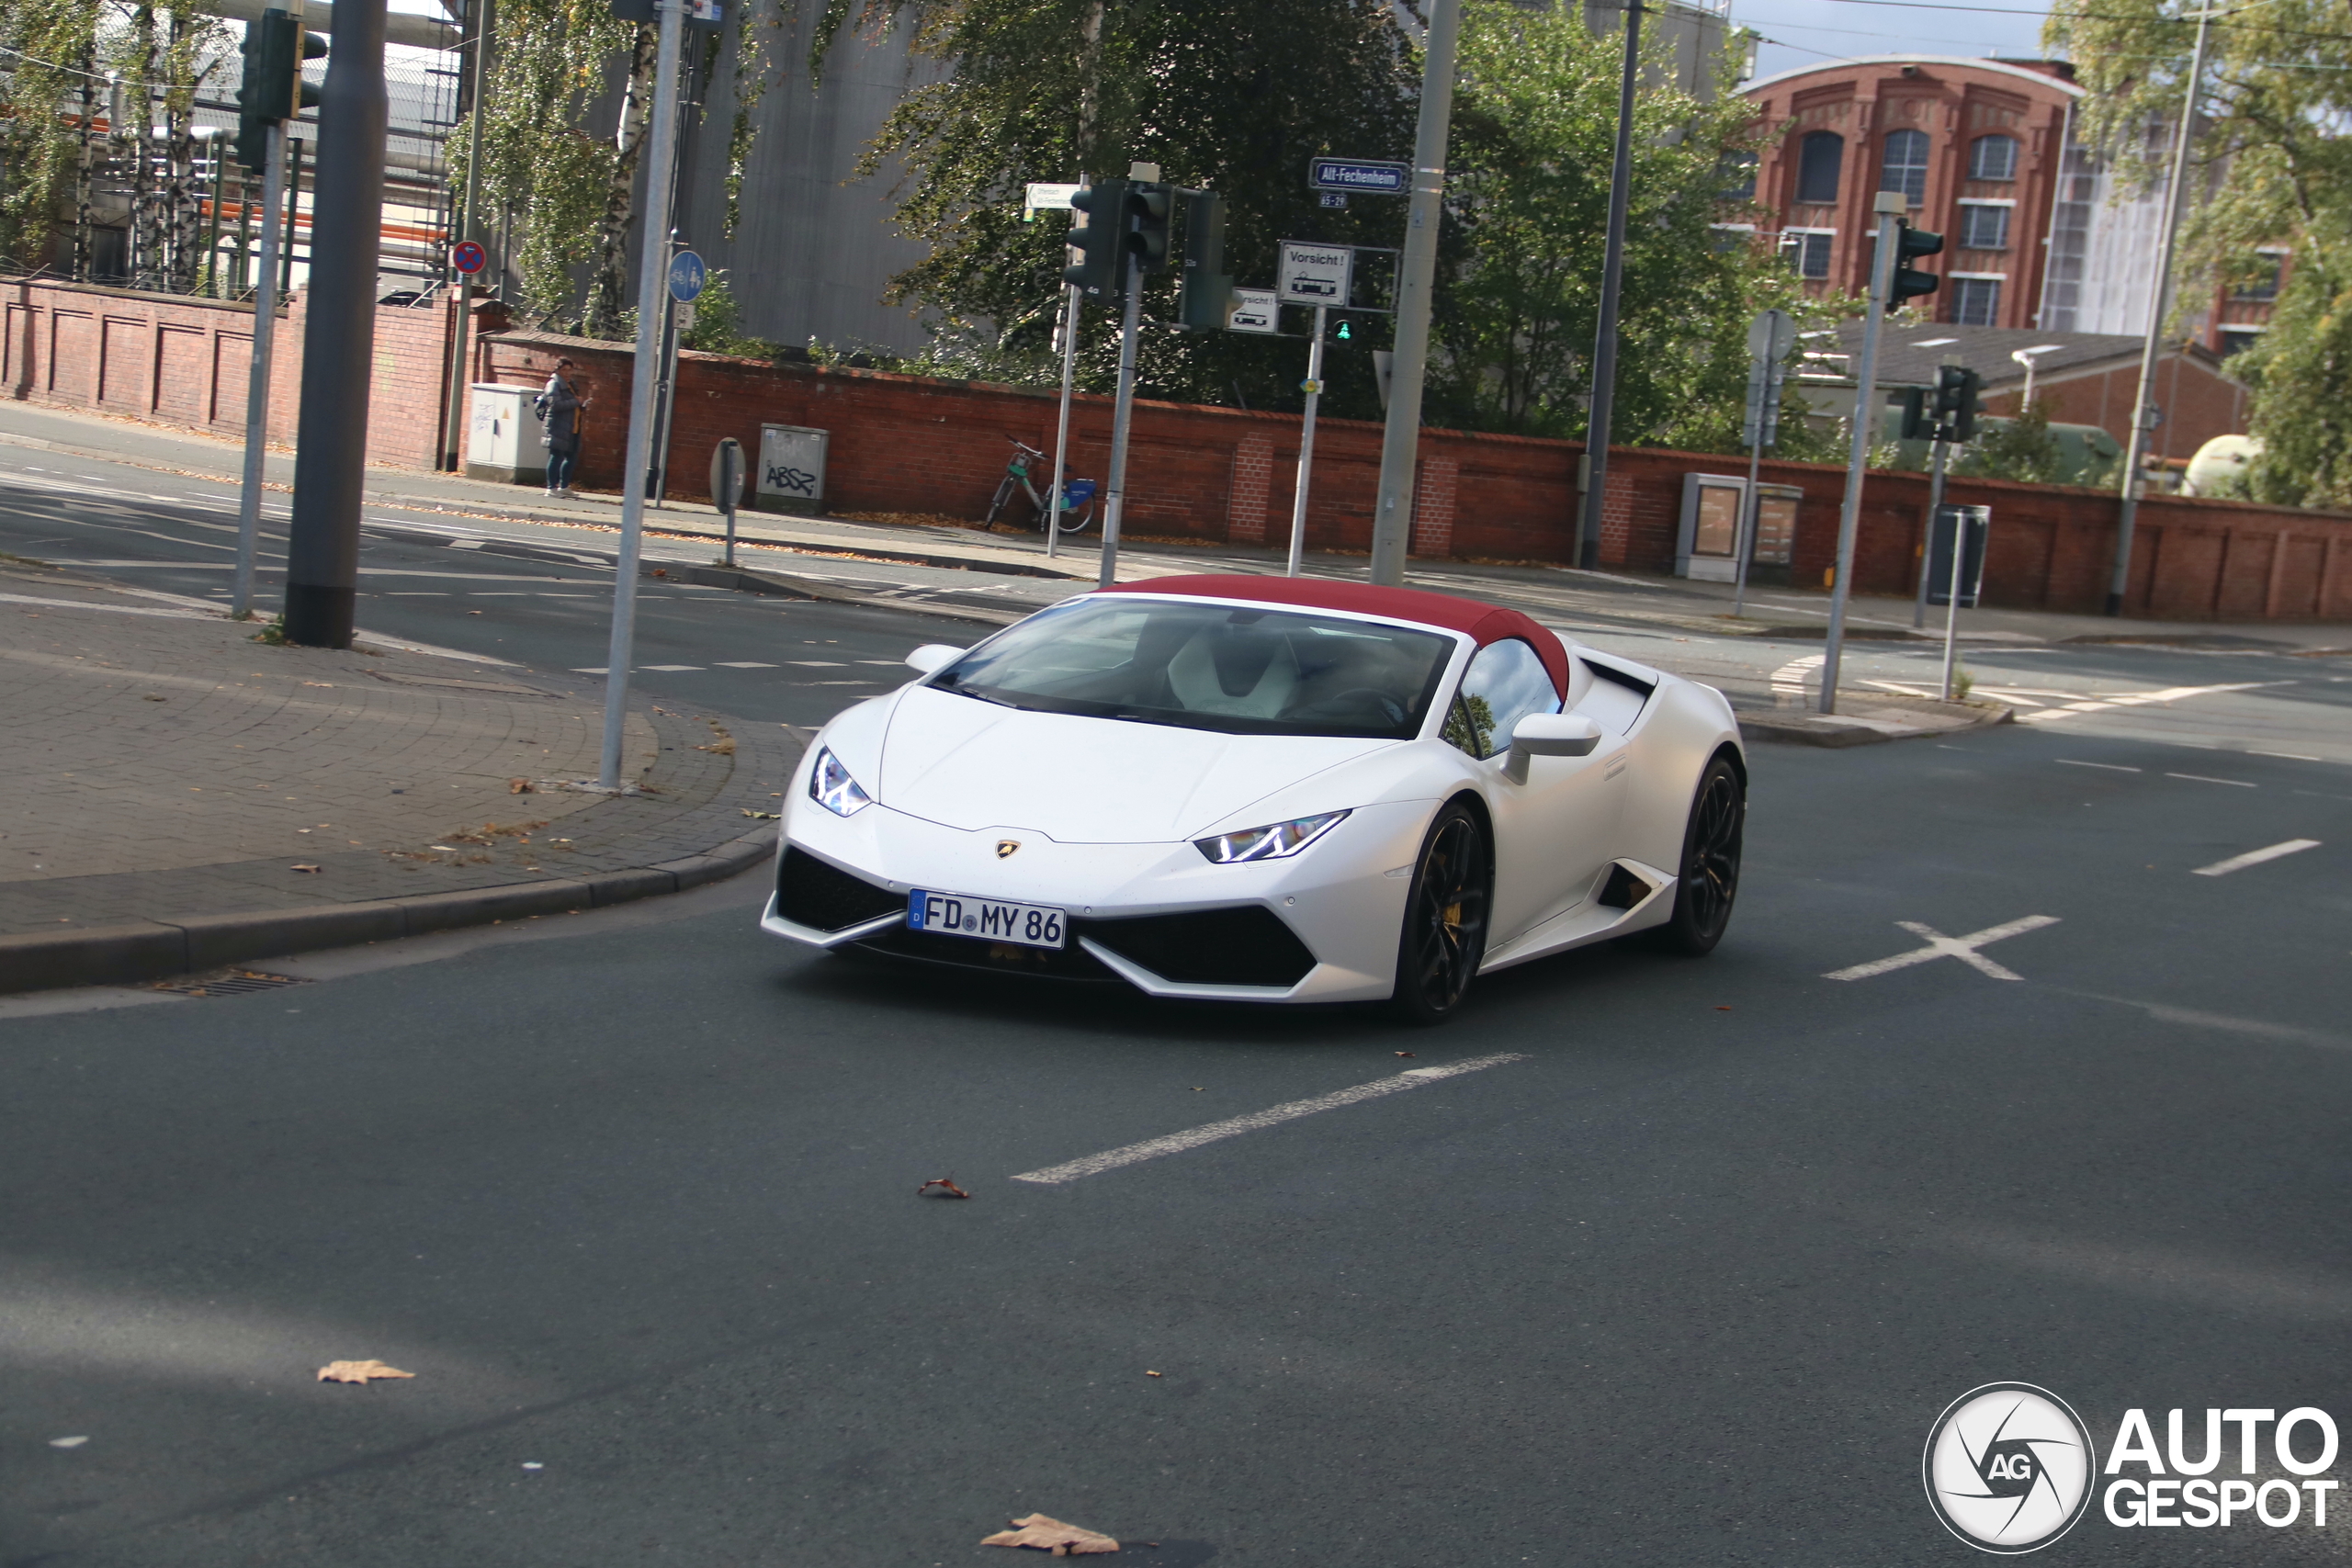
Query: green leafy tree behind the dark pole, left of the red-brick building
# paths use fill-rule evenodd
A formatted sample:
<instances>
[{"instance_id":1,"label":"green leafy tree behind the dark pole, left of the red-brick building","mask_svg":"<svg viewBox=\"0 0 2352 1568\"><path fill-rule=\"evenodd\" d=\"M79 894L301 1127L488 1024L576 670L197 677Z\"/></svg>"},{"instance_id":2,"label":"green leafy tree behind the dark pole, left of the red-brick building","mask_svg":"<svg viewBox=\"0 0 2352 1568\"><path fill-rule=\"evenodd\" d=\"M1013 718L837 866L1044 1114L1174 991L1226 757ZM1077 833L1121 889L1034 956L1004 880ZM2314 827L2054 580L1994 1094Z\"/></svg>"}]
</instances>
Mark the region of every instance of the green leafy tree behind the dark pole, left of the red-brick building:
<instances>
[{"instance_id":1,"label":"green leafy tree behind the dark pole, left of the red-brick building","mask_svg":"<svg viewBox=\"0 0 2352 1568\"><path fill-rule=\"evenodd\" d=\"M1430 367L1430 418L1522 435L1585 433L1599 324L1609 167L1623 31L1595 35L1573 7L1470 0L1446 155L1446 270ZM1665 38L1656 73L1670 78ZM1748 322L1811 306L1743 230L1729 195L1766 127L1731 92L1712 101L1649 85L1635 99L1632 202L1618 299L1616 440L1736 451ZM1783 433L1804 447L1802 418Z\"/></svg>"}]
</instances>

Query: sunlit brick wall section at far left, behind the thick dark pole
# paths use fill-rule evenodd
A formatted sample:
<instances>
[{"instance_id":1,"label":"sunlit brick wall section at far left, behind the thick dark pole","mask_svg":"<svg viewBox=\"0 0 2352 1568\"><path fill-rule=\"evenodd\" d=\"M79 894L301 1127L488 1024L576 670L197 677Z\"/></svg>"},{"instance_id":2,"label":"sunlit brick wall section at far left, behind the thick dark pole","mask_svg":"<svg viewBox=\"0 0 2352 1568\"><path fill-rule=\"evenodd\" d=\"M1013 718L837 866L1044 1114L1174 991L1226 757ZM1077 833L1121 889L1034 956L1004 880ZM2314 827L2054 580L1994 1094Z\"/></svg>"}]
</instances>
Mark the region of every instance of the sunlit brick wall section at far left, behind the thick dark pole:
<instances>
[{"instance_id":1,"label":"sunlit brick wall section at far left, behind the thick dark pole","mask_svg":"<svg viewBox=\"0 0 2352 1568\"><path fill-rule=\"evenodd\" d=\"M254 308L221 299L0 280L0 395L245 435ZM301 411L303 299L278 322L270 444L292 447ZM440 435L449 313L376 310L367 458L430 468Z\"/></svg>"}]
</instances>

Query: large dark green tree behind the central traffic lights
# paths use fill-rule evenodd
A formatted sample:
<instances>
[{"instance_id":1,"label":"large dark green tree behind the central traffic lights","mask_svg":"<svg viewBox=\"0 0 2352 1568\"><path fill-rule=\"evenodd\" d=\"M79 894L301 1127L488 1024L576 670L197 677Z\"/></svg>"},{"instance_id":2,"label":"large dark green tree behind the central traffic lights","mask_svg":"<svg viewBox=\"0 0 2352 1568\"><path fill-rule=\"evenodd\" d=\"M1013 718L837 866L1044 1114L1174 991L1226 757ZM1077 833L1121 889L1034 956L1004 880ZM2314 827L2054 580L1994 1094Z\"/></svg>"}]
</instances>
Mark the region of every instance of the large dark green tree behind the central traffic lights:
<instances>
[{"instance_id":1,"label":"large dark green tree behind the central traffic lights","mask_svg":"<svg viewBox=\"0 0 2352 1568\"><path fill-rule=\"evenodd\" d=\"M1305 188L1317 153L1411 150L1414 61L1385 0L877 0L866 14L908 16L915 52L953 63L948 80L908 94L863 165L903 160L898 223L931 254L891 280L889 299L938 313L948 357L1058 376L1065 221L1023 221L1028 181L1120 176L1143 160L1218 190L1225 266L1242 282L1272 282L1282 240L1397 237L1399 202L1334 212ZM1148 287L1145 315L1174 317L1174 275ZM1112 381L1115 327L1110 310L1087 313L1089 388ZM1374 339L1385 346L1385 327L1357 341ZM1152 329L1136 383L1150 397L1298 407L1303 367L1298 341ZM1369 353L1331 353L1327 378L1327 409L1378 416Z\"/></svg>"}]
</instances>

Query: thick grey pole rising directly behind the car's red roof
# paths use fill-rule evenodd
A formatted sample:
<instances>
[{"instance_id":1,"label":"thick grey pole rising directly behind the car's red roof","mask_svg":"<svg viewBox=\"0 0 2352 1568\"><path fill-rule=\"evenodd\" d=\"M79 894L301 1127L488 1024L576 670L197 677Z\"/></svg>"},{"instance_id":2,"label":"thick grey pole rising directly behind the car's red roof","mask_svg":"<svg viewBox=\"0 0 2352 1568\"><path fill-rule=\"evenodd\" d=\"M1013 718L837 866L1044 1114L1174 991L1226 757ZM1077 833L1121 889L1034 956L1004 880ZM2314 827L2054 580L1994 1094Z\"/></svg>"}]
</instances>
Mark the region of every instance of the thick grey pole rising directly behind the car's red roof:
<instances>
[{"instance_id":1,"label":"thick grey pole rising directly behind the car's red roof","mask_svg":"<svg viewBox=\"0 0 2352 1568\"><path fill-rule=\"evenodd\" d=\"M1421 458L1421 378L1430 364L1430 284L1437 277L1437 221L1446 193L1446 129L1454 122L1454 49L1463 0L1428 0L1430 35L1421 63L1421 118L1414 127L1414 195L1397 256L1397 343L1390 362L1388 430L1381 435L1381 491L1371 512L1371 581L1404 581L1414 534L1414 468ZM1317 334L1322 336L1322 334Z\"/></svg>"}]
</instances>

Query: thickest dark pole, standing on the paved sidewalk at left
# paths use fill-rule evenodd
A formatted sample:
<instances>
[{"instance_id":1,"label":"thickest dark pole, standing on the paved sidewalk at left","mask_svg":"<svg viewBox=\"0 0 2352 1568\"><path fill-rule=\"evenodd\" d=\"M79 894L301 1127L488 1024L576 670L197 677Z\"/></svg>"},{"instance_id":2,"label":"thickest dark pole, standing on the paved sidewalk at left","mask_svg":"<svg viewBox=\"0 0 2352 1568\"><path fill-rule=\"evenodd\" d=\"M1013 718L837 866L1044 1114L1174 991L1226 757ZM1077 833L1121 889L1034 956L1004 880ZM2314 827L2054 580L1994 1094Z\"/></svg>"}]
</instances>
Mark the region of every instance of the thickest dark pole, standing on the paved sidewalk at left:
<instances>
[{"instance_id":1,"label":"thickest dark pole, standing on the paved sidewalk at left","mask_svg":"<svg viewBox=\"0 0 2352 1568\"><path fill-rule=\"evenodd\" d=\"M310 287L301 343L287 642L348 649L360 583L367 395L383 252L383 0L343 0L318 110Z\"/></svg>"}]
</instances>

